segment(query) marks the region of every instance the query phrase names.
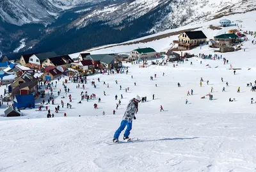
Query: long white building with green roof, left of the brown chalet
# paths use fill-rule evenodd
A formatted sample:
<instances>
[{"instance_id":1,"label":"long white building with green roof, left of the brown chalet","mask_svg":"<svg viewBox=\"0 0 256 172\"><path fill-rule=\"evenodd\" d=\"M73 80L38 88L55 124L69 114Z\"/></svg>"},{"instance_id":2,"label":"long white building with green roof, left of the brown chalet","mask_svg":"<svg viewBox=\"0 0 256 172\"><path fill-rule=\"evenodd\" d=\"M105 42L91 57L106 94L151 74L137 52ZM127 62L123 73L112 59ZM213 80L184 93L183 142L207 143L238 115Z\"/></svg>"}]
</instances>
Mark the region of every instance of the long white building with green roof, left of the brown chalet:
<instances>
[{"instance_id":1,"label":"long white building with green roof, left of the brown chalet","mask_svg":"<svg viewBox=\"0 0 256 172\"><path fill-rule=\"evenodd\" d=\"M135 49L131 52L129 59L136 60L136 59L150 59L156 58L157 52L152 48L142 48L142 49Z\"/></svg>"}]
</instances>

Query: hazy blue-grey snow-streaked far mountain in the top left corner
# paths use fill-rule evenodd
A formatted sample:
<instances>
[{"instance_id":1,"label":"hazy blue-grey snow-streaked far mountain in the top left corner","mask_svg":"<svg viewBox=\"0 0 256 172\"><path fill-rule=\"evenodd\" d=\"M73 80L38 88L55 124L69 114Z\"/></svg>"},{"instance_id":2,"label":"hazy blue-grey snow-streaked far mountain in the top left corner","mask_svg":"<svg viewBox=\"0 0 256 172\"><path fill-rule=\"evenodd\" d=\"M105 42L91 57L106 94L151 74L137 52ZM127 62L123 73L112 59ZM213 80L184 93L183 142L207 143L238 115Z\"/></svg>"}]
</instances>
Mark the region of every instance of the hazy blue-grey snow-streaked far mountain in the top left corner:
<instances>
[{"instance_id":1,"label":"hazy blue-grey snow-streaked far mountain in the top left corner","mask_svg":"<svg viewBox=\"0 0 256 172\"><path fill-rule=\"evenodd\" d=\"M0 17L3 21L21 26L31 22L54 22L61 11L93 0L5 0L0 1ZM93 1L95 2L95 1Z\"/></svg>"}]
</instances>

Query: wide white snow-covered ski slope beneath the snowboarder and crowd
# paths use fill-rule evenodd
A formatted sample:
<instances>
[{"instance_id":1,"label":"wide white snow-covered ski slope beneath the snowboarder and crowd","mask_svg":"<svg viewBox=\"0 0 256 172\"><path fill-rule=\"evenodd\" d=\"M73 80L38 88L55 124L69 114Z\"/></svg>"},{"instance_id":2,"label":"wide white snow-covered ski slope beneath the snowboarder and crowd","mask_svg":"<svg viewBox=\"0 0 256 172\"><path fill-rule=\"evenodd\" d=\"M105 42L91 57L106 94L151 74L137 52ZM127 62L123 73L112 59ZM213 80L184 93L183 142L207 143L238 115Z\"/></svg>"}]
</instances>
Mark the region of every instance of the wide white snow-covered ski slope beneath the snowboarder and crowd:
<instances>
[{"instance_id":1,"label":"wide white snow-covered ski slope beneath the snowboarder and crowd","mask_svg":"<svg viewBox=\"0 0 256 172\"><path fill-rule=\"evenodd\" d=\"M249 24L246 28L246 24L243 22L244 30L252 28ZM35 109L22 110L24 116L21 117L0 117L0 171L255 171L256 105L250 104L255 92L246 84L255 81L256 45L251 42L252 36L248 38L249 41L243 43L245 52L222 54L229 61L227 65L223 65L223 59L200 58L191 58L175 68L173 63L148 68L125 63L129 66L128 75L89 76L85 90L76 89L77 84L68 81L72 109L64 106L60 113L54 113L54 118L46 118L47 111ZM214 54L207 45L190 52ZM233 68L241 68L236 75L230 70L230 63ZM154 74L157 77L150 81ZM202 87L200 77L204 79ZM118 84L115 84L116 79ZM62 81L53 91L56 105L49 105L51 111L65 96ZM92 81L96 89L91 86ZM103 81L109 83L109 88ZM119 90L120 85L122 90ZM225 92L221 92L223 86ZM127 87L129 91L125 93ZM211 92L211 87L214 100L207 96L200 98ZM237 93L238 87L241 87L240 93ZM4 88L0 87L1 93ZM60 89L61 95L57 97ZM187 96L191 89L194 95ZM100 97L99 109L93 109L97 100L82 100L82 104L77 104L81 91ZM122 105L113 115L119 100L115 100L115 95L120 98L121 93L124 95ZM147 96L148 100L140 103L131 130L131 137L138 137L140 141L112 145L125 108L137 94ZM155 100L152 100L153 94ZM46 91L45 100L47 98ZM185 104L186 98L190 104ZM236 101L228 102L229 98L236 98ZM66 105L68 97L62 100ZM42 98L36 100L38 102L42 102ZM161 105L163 112L159 109ZM4 114L5 109L6 104L1 106L0 114ZM67 113L66 118L63 113ZM123 133L120 140L122 136Z\"/></svg>"}]
</instances>

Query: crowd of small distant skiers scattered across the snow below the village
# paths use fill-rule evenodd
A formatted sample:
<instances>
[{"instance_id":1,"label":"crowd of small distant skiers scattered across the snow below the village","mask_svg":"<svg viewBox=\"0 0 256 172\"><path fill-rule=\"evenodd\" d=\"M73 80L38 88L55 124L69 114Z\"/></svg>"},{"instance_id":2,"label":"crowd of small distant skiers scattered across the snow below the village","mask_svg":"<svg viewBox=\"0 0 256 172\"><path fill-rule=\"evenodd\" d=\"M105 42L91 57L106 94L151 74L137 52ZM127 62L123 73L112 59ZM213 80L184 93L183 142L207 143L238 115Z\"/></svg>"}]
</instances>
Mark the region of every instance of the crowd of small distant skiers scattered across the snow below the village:
<instances>
[{"instance_id":1,"label":"crowd of small distant skiers scattered across the snow below the village","mask_svg":"<svg viewBox=\"0 0 256 172\"><path fill-rule=\"evenodd\" d=\"M214 54L213 56L211 54L209 54L209 55L199 54L199 57L200 58L207 58L207 59L215 59L215 58L222 59L222 56L217 56L217 54ZM163 61L163 62L165 63L165 61ZM223 58L223 62L224 62L224 64L228 63L228 60L226 58ZM160 63L160 61L159 61L159 63ZM120 70L104 70L104 71L101 71L102 74L104 74L106 72L108 72L108 74L109 74L109 72L111 74L114 74L115 72L117 74L119 74L119 73L120 74L124 74L124 73L128 74L128 68L121 68ZM234 70L234 74L236 74L236 70ZM164 72L163 72L163 76L164 76ZM154 80L154 78L156 78L156 77L157 77L157 74L154 74L154 75L150 76L150 80ZM131 79L133 79L132 75L131 75ZM97 79L95 79L95 80L97 82L100 82L100 78L99 77ZM58 79L58 81L60 81L60 79ZM77 85L76 85L77 89L85 90L85 87L86 87L85 84L87 83L87 77L83 76L83 75L78 75L77 74L74 77L68 77L68 80L65 79L63 81L63 88L65 90L65 96L63 96L61 98L67 97L67 93L70 92L70 89L67 88L68 81L77 83ZM200 78L200 87L202 87L203 82L204 82L204 79L201 77ZM223 82L223 77L221 77L221 82ZM118 84L118 81L115 80L115 83ZM207 83L207 85L209 85L209 80L207 80L206 83ZM256 83L256 81L255 81L255 83ZM96 88L95 81L91 81L91 84L92 84L92 86L94 88ZM103 82L103 84L107 85L108 88L109 88L109 84L106 84L105 81ZM45 93L48 93L49 99L47 100L46 104L52 104L52 105L56 104L56 102L55 102L55 100L53 98L54 96L52 94L52 91L54 89L56 89L57 81L55 81L55 84L54 84L54 82L44 82L44 85L46 85L45 86L45 90L40 91L40 93L42 95L45 95ZM41 86L43 86L42 82L41 82ZM136 86L136 82L134 82L134 86ZM157 86L157 84L155 84L155 86ZM226 86L228 86L228 82L226 82ZM249 86L249 84L247 84L247 86ZM252 86L252 82L250 82L250 86ZM178 82L178 87L180 87L180 82ZM119 90L122 90L122 85L119 85ZM125 88L124 90L125 90L125 93L127 93L127 91L129 91L129 87ZM49 91L51 91L51 95L49 95ZM225 90L225 86L223 86L222 92L225 92L225 91L226 91ZM251 91L256 91L256 85L252 86ZM208 94L209 100L213 100L212 92L213 92L213 87L211 87L211 93ZM57 93L58 93L58 95L60 95L61 94L61 90L58 90ZM237 93L240 93L240 87L237 88ZM106 95L105 91L104 91L104 95ZM193 89L188 90L187 91L187 95L188 96L189 95L193 95ZM96 98L98 98L98 97L96 97L96 95L94 93L89 95L87 91L81 91L81 100L78 103L81 104L84 99L88 102L89 100L95 100ZM120 99L122 99L122 98L124 98L124 97L121 94L120 95ZM205 98L205 96L203 96L201 98ZM69 103L67 103L67 108L71 108L72 107L71 104L70 104L70 102L72 102L72 95L71 94L68 95L68 99L69 99ZM116 111L118 110L118 107L121 106L121 100L120 99L118 100L118 95L115 95L115 100L118 100L118 103L116 103L116 108L113 109L113 114L116 114ZM154 95L152 96L152 99L154 100ZM98 98L97 100L98 100L98 103L101 102L100 98ZM230 102L232 102L232 101L234 101L234 99L230 99ZM141 102L147 102L147 97L141 97ZM45 104L45 101L43 101L43 104ZM188 99L186 99L186 104L188 104ZM63 102L63 100L61 100L61 107L63 108L63 106L64 106L64 102ZM38 110L42 111L42 107L44 107L44 106L39 106ZM94 107L94 109L98 109L98 105L97 104L93 104L93 107ZM56 107L54 107L54 109L55 109L55 113L58 113L60 111L60 106L56 106ZM160 106L160 111L164 111L163 106ZM105 114L105 112L103 114ZM47 115L47 116L50 116L50 115Z\"/></svg>"}]
</instances>

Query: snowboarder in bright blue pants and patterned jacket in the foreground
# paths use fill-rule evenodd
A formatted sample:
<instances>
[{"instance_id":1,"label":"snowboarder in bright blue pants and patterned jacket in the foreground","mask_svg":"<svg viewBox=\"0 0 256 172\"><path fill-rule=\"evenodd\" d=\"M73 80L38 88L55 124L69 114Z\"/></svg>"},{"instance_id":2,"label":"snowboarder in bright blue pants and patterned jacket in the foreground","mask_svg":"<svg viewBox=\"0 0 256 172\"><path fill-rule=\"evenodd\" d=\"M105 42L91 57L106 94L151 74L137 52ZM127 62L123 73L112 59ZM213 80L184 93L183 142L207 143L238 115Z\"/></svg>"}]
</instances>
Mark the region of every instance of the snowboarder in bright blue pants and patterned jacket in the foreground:
<instances>
[{"instance_id":1,"label":"snowboarder in bright blue pants and patterned jacket in the foreground","mask_svg":"<svg viewBox=\"0 0 256 172\"><path fill-rule=\"evenodd\" d=\"M132 120L136 120L135 114L138 113L138 103L140 101L141 98L138 95L136 98L132 98L132 100L130 100L124 113L123 120L121 121L120 127L115 132L113 142L118 142L120 133L125 129L125 126L127 126L127 128L124 132L124 140L129 140L130 131L132 129Z\"/></svg>"}]
</instances>

